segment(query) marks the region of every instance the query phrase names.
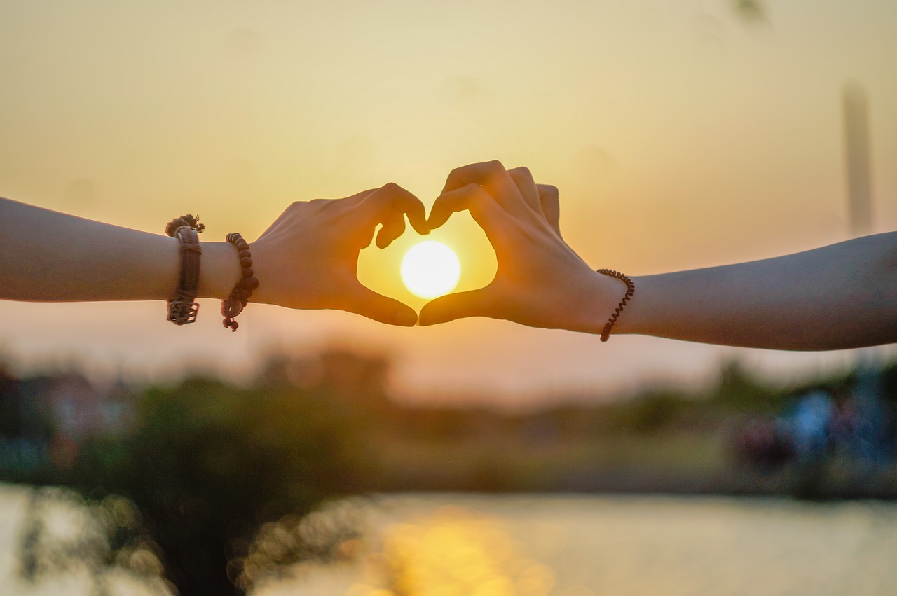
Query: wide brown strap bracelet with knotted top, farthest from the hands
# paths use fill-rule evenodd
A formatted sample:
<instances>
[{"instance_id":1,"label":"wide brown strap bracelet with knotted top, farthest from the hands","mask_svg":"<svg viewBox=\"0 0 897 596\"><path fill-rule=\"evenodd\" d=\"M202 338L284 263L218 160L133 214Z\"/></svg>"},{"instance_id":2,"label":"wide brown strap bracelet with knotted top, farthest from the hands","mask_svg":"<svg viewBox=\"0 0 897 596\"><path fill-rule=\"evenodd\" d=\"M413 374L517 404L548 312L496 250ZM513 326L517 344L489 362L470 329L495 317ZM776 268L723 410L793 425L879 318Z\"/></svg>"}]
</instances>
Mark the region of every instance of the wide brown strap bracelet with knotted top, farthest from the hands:
<instances>
[{"instance_id":1,"label":"wide brown strap bracelet with knotted top, farthest from the hands","mask_svg":"<svg viewBox=\"0 0 897 596\"><path fill-rule=\"evenodd\" d=\"M199 223L199 216L182 215L169 221L165 233L180 241L180 275L175 297L167 300L168 320L176 325L196 322L199 304L199 259L203 247L199 245L197 234L205 229Z\"/></svg>"}]
</instances>

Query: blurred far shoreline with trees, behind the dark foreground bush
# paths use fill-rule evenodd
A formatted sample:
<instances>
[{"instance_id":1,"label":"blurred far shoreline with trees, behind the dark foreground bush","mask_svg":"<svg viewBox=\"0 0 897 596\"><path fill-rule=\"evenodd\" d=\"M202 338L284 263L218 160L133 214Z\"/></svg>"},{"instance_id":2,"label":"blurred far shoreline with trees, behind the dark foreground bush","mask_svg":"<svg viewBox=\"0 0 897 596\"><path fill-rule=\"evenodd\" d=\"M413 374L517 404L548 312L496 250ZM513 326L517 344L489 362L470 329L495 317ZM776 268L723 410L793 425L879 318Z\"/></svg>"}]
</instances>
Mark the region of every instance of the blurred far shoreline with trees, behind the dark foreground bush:
<instances>
[{"instance_id":1,"label":"blurred far shoreline with trees, behind the dark foreground bush","mask_svg":"<svg viewBox=\"0 0 897 596\"><path fill-rule=\"evenodd\" d=\"M141 434L191 440L205 425L230 430L262 415L287 442L318 436L331 453L320 465L354 461L342 492L897 498L897 363L793 386L728 363L717 385L691 393L660 387L521 411L396 400L390 368L386 357L327 350L274 355L248 385L193 376L162 387L0 367L0 480L89 487L110 465L127 467ZM154 428L160 414L198 428Z\"/></svg>"}]
</instances>

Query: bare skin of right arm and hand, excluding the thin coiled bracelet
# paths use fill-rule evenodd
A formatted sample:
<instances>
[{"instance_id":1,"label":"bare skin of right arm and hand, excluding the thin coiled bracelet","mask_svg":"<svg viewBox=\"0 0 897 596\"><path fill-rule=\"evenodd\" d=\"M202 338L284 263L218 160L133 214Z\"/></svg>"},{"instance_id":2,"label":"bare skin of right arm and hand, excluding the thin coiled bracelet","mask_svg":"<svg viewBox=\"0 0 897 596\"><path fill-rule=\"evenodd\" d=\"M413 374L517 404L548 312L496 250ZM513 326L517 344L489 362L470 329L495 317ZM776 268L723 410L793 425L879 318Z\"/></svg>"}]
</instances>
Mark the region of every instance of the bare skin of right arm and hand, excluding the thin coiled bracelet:
<instances>
[{"instance_id":1,"label":"bare skin of right arm and hand, excluding the thin coiled bracelet","mask_svg":"<svg viewBox=\"0 0 897 596\"><path fill-rule=\"evenodd\" d=\"M558 190L498 161L457 168L431 210L435 229L469 211L492 242L495 279L436 298L420 324L490 316L601 333L626 291L564 242ZM779 350L839 350L897 341L897 232L795 255L634 277L614 334Z\"/></svg>"}]
</instances>

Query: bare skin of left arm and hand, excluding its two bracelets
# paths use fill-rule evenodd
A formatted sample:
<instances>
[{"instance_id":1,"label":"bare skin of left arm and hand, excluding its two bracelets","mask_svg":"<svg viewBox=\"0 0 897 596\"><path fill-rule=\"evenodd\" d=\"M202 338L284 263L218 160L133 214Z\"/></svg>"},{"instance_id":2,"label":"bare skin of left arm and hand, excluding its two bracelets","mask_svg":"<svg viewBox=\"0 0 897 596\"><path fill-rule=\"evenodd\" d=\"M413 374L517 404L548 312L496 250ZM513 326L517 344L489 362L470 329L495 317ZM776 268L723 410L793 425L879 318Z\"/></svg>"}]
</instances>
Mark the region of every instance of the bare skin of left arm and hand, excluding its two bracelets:
<instances>
[{"instance_id":1,"label":"bare skin of left arm and hand, excluding its two bracelets","mask_svg":"<svg viewBox=\"0 0 897 596\"><path fill-rule=\"evenodd\" d=\"M358 254L374 230L384 248L405 231L421 234L422 203L389 183L343 199L292 203L251 242L258 289L251 301L337 308L381 323L412 326L417 314L361 285ZM0 298L30 301L161 300L178 285L179 241L0 199ZM202 236L200 236L202 238ZM199 297L226 298L239 280L236 248L202 242Z\"/></svg>"}]
</instances>

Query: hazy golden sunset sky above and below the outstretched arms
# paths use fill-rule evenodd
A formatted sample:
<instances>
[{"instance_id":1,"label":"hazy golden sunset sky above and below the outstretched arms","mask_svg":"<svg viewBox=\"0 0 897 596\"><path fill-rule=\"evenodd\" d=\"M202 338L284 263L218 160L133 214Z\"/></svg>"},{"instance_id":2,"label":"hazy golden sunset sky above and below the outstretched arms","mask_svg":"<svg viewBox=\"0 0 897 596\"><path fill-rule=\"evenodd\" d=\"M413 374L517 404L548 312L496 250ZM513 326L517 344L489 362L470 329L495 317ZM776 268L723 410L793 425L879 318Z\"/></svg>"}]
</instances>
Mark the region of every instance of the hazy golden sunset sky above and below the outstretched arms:
<instances>
[{"instance_id":1,"label":"hazy golden sunset sky above and below the outstretched arms","mask_svg":"<svg viewBox=\"0 0 897 596\"><path fill-rule=\"evenodd\" d=\"M853 81L869 101L875 229L897 228L897 3L737 4L5 3L0 196L158 233L198 212L204 239L251 241L292 201L394 181L429 206L451 168L499 159L561 189L564 236L588 263L666 272L849 238L840 93ZM459 289L489 281L494 255L469 217L431 236L456 249ZM419 309L399 281L417 240L366 250L361 281ZM856 358L259 305L231 334L217 311L206 300L177 328L161 303L3 302L0 352L163 378L350 344L394 356L402 392L507 402L707 378L721 358L779 376Z\"/></svg>"}]
</instances>

